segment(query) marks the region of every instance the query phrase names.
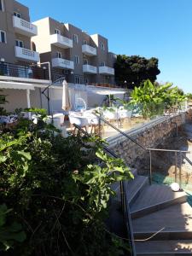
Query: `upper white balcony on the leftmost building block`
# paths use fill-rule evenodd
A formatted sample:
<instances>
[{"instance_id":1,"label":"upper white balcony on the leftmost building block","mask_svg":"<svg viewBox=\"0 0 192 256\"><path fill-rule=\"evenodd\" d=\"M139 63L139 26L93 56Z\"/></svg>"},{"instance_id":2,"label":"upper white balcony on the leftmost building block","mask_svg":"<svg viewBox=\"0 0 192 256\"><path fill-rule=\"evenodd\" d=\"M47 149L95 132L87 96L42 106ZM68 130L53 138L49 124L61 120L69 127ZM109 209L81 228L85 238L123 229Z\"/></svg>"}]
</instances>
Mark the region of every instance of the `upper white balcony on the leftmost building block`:
<instances>
[{"instance_id":1,"label":"upper white balcony on the leftmost building block","mask_svg":"<svg viewBox=\"0 0 192 256\"><path fill-rule=\"evenodd\" d=\"M38 35L37 26L16 16L13 16L13 25L15 27L15 32L18 32L26 37L33 37Z\"/></svg>"}]
</instances>

